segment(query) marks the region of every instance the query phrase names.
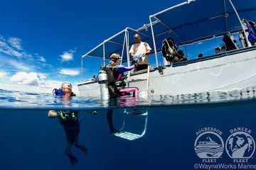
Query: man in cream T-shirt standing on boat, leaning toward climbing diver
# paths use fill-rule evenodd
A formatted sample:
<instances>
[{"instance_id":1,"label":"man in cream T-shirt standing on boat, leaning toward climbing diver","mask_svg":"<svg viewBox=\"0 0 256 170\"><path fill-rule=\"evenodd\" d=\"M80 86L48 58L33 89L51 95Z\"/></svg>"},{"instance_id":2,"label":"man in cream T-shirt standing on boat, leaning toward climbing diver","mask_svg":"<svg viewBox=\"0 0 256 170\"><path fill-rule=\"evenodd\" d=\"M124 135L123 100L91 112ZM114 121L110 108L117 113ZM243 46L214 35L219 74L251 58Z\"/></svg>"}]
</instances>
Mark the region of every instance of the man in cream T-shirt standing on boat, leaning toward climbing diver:
<instances>
[{"instance_id":1,"label":"man in cream T-shirt standing on boat, leaning toward climbing diver","mask_svg":"<svg viewBox=\"0 0 256 170\"><path fill-rule=\"evenodd\" d=\"M132 45L131 49L129 50L129 54L134 60L132 64L137 64L137 67L134 68L134 71L136 72L148 68L151 47L149 47L148 43L142 42L139 34L134 35L134 40L135 44Z\"/></svg>"}]
</instances>

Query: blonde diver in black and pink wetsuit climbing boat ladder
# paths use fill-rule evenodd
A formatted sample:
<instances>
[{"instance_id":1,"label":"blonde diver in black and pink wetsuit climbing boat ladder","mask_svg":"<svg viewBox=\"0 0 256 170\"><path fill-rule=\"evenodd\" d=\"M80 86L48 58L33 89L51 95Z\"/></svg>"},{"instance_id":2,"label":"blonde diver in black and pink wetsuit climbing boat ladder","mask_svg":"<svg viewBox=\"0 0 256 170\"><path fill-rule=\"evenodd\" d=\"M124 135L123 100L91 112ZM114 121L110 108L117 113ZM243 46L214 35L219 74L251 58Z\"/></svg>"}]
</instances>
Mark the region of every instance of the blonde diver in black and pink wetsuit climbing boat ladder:
<instances>
[{"instance_id":1,"label":"blonde diver in black and pink wetsuit climbing boat ladder","mask_svg":"<svg viewBox=\"0 0 256 170\"><path fill-rule=\"evenodd\" d=\"M134 88L129 89L119 89L120 86L125 86L124 81L119 81L122 79L122 74L124 72L130 71L134 69L134 66L132 67L124 67L124 66L118 66L119 63L119 54L114 53L110 56L110 64L106 67L107 72L107 86L110 92L110 96L112 98L118 97L118 96L124 96L129 94L131 91L136 91ZM117 81L119 81L119 84L117 84Z\"/></svg>"}]
</instances>

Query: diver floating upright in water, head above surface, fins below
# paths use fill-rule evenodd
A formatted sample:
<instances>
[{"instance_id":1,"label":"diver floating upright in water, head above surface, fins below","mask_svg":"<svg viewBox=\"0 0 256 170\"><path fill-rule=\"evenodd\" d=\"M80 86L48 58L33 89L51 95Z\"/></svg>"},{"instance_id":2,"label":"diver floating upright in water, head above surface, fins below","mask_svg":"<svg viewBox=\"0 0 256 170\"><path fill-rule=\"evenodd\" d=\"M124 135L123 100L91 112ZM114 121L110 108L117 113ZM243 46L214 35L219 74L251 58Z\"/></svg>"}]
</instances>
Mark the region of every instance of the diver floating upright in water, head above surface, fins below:
<instances>
[{"instance_id":1,"label":"diver floating upright in water, head above surface, fins below","mask_svg":"<svg viewBox=\"0 0 256 170\"><path fill-rule=\"evenodd\" d=\"M75 94L72 91L72 85L68 82L64 82L60 89L54 89L54 94L63 96L63 101L70 100ZM87 148L80 145L78 142L78 136L80 132L80 121L78 120L78 111L49 111L48 118L58 118L60 125L63 125L68 145L65 149L70 164L75 165L78 163L78 159L72 154L71 149L73 145L78 149L81 149L84 154L87 155Z\"/></svg>"}]
</instances>

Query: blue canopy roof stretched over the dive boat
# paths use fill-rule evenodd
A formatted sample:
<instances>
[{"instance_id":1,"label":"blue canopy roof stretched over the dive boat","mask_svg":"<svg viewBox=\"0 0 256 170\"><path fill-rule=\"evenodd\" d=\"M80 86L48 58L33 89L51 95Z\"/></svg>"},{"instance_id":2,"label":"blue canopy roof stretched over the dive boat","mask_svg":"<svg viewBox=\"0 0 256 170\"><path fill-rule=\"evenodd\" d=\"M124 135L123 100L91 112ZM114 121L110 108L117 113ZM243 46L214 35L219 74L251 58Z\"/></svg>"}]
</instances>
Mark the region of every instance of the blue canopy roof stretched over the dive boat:
<instances>
[{"instance_id":1,"label":"blue canopy roof stretched over the dive boat","mask_svg":"<svg viewBox=\"0 0 256 170\"><path fill-rule=\"evenodd\" d=\"M173 38L176 45L186 45L218 37L228 31L238 32L241 23L230 2L240 18L256 21L256 1L253 0L188 0L151 15L150 23L142 28L122 30L82 57L109 59L112 53L117 52L125 62L129 47L134 44L132 37L135 33L139 33L142 41L159 52L164 38Z\"/></svg>"}]
</instances>

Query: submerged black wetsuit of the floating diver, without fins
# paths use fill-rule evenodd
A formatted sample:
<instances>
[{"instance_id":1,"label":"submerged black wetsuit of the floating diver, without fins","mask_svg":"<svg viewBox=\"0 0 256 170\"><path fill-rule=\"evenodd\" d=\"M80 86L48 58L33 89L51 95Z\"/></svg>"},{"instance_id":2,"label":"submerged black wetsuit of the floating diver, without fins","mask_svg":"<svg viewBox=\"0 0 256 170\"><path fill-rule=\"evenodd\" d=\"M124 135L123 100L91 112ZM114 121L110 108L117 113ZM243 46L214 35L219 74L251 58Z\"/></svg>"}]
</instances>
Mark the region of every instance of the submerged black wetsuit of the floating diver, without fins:
<instances>
[{"instance_id":1,"label":"submerged black wetsuit of the floating diver, without fins","mask_svg":"<svg viewBox=\"0 0 256 170\"><path fill-rule=\"evenodd\" d=\"M58 119L60 125L63 125L67 141L74 144L80 132L80 123L78 120L78 111L59 111Z\"/></svg>"}]
</instances>

